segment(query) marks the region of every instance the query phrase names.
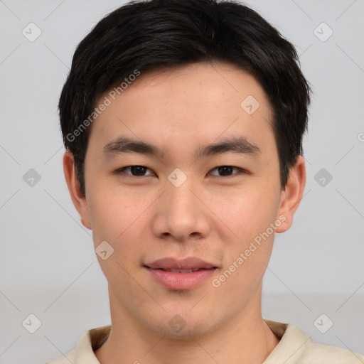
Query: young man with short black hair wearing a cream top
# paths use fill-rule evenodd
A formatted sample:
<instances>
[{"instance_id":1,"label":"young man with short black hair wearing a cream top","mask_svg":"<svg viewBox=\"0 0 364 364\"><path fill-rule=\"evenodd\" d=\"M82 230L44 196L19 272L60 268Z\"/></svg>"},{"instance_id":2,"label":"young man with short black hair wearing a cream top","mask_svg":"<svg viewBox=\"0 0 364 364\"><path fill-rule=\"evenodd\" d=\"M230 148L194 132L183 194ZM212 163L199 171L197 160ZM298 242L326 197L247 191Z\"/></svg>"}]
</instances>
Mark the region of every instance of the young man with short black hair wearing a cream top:
<instances>
[{"instance_id":1,"label":"young man with short black hair wearing a cream top","mask_svg":"<svg viewBox=\"0 0 364 364\"><path fill-rule=\"evenodd\" d=\"M304 192L309 101L294 47L242 4L133 2L95 26L59 109L112 323L49 363L364 362L262 318L274 234Z\"/></svg>"}]
</instances>

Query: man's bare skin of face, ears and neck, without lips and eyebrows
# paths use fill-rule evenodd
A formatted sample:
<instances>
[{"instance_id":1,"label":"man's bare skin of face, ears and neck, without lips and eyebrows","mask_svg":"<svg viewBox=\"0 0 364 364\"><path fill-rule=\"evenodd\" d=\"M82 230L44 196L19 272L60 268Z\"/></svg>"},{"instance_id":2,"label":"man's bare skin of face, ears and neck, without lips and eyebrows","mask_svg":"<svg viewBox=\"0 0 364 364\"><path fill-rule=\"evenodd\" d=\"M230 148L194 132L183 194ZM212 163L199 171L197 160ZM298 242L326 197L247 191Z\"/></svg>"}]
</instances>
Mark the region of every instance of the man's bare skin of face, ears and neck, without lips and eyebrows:
<instances>
[{"instance_id":1,"label":"man's bare skin of face, ears and neck, without lips and eyebrows","mask_svg":"<svg viewBox=\"0 0 364 364\"><path fill-rule=\"evenodd\" d=\"M248 95L260 105L253 114L240 107ZM164 154L105 156L104 146L121 136L147 141ZM194 158L198 146L225 137L245 137L261 153ZM285 221L275 232L291 227L306 182L304 159L299 156L282 191L272 109L254 77L227 63L141 74L92 125L85 197L70 151L63 163L70 196L82 224L92 229L95 248L106 240L114 249L106 260L97 256L112 318L110 336L95 352L100 363L237 364L267 358L279 343L261 311L274 233L220 287L207 279L186 291L166 289L143 267L162 257L199 257L219 267L216 278L279 216ZM144 176L133 176L130 168L115 173L135 165L149 169ZM247 173L232 169L224 176L218 166ZM179 187L168 180L175 168L187 177ZM186 323L179 332L168 325L177 314Z\"/></svg>"}]
</instances>

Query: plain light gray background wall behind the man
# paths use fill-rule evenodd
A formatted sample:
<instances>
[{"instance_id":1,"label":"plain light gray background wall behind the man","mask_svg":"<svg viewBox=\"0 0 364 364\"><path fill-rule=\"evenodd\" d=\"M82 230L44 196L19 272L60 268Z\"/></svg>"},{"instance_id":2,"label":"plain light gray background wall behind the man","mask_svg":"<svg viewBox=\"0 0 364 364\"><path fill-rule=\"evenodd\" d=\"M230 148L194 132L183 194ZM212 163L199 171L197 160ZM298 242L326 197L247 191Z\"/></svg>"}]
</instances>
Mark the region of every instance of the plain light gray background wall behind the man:
<instances>
[{"instance_id":1,"label":"plain light gray background wall behind the man","mask_svg":"<svg viewBox=\"0 0 364 364\"><path fill-rule=\"evenodd\" d=\"M77 43L122 4L0 0L2 364L45 363L110 322L107 281L65 184L56 107ZM263 317L364 353L364 1L248 4L296 45L314 90L305 195L292 228L276 235ZM31 22L34 41L22 33L36 35ZM33 186L31 168L41 177ZM29 314L41 321L35 333Z\"/></svg>"}]
</instances>

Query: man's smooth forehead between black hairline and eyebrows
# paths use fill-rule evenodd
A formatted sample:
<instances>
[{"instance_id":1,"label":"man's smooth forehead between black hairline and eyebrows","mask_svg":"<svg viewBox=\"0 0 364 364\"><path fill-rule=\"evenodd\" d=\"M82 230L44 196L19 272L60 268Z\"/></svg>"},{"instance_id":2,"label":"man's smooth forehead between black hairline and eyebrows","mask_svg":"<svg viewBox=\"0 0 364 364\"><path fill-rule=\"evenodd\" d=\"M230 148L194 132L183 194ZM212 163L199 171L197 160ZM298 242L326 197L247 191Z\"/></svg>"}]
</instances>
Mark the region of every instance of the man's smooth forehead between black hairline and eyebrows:
<instances>
[{"instance_id":1,"label":"man's smooth forehead between black hairline and eyebrows","mask_svg":"<svg viewBox=\"0 0 364 364\"><path fill-rule=\"evenodd\" d=\"M176 145L182 150L187 144L242 136L264 149L273 140L264 90L235 65L194 63L141 73L119 94L110 92L100 97L99 104L107 98L109 105L95 120L90 137L97 135L103 145L125 136L176 151Z\"/></svg>"}]
</instances>

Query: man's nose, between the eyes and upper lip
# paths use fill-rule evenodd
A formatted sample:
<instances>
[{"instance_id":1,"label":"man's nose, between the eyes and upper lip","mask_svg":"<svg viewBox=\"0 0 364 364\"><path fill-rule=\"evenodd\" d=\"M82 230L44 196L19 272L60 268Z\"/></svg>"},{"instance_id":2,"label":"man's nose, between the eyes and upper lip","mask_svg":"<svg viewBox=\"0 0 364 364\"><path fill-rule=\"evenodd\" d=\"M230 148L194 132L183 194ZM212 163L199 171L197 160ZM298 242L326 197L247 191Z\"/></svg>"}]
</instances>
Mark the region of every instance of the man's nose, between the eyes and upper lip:
<instances>
[{"instance_id":1,"label":"man's nose, between the eyes and upper lip","mask_svg":"<svg viewBox=\"0 0 364 364\"><path fill-rule=\"evenodd\" d=\"M168 181L157 204L151 224L156 237L183 242L208 236L209 210L203 203L202 191L193 186L191 178L179 187Z\"/></svg>"}]
</instances>

